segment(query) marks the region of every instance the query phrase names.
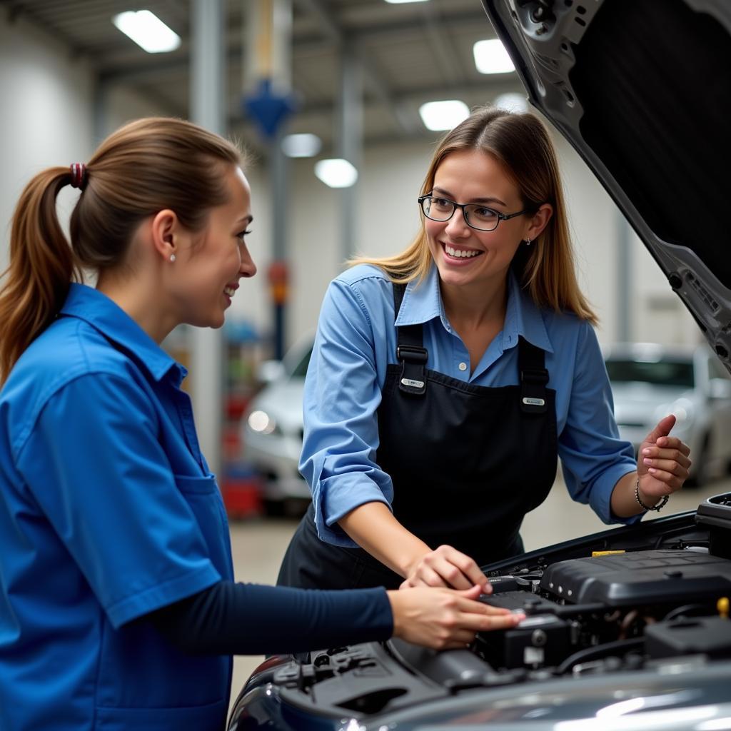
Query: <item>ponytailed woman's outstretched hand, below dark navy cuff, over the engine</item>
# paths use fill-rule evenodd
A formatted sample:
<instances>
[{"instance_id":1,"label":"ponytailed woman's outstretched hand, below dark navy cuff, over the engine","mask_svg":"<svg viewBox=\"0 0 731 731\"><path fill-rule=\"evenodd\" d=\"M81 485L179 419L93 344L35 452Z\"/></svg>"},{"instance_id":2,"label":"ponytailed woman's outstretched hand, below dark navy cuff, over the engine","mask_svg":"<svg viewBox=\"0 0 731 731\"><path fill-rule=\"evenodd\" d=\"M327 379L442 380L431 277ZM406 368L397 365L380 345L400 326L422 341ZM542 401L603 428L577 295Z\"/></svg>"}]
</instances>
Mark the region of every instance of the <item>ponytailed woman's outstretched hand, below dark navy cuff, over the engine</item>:
<instances>
[{"instance_id":1,"label":"ponytailed woman's outstretched hand, below dark navy cuff, over the engine","mask_svg":"<svg viewBox=\"0 0 731 731\"><path fill-rule=\"evenodd\" d=\"M409 588L388 591L393 611L393 636L435 650L463 648L477 632L508 629L525 618L510 610L475 601L482 587L466 591Z\"/></svg>"}]
</instances>

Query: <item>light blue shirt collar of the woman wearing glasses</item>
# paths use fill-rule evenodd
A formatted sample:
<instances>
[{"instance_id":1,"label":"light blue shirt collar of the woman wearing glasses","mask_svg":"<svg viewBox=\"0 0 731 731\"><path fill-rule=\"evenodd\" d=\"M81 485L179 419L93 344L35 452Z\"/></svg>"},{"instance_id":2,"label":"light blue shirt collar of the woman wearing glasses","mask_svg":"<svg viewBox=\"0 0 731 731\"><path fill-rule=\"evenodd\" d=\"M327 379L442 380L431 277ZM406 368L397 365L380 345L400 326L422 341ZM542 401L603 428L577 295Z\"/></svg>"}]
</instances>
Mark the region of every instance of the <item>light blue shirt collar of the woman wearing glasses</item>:
<instances>
[{"instance_id":1,"label":"light blue shirt collar of the woman wearing glasses","mask_svg":"<svg viewBox=\"0 0 731 731\"><path fill-rule=\"evenodd\" d=\"M518 336L523 336L535 346L553 352L540 308L531 299L529 292L520 289L512 271L508 274L507 283L505 324L499 336L501 349L507 350L517 345ZM406 285L395 325L419 325L436 317L441 319L444 329L452 333L439 290L439 271L436 266L431 265L424 279L412 280Z\"/></svg>"}]
</instances>

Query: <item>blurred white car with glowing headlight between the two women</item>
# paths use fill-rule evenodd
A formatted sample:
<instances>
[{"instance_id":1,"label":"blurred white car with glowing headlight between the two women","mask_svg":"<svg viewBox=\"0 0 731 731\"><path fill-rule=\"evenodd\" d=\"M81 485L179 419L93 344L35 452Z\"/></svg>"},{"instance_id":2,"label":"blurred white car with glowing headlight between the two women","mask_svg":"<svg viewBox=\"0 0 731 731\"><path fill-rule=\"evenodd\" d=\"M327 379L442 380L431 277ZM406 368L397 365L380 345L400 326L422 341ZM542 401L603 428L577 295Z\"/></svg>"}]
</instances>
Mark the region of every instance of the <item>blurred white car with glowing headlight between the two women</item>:
<instances>
[{"instance_id":1,"label":"blurred white car with glowing headlight between the two women","mask_svg":"<svg viewBox=\"0 0 731 731\"><path fill-rule=\"evenodd\" d=\"M302 395L312 352L311 336L300 339L284 360L265 361L259 368L265 382L241 420L243 461L264 477L265 504L299 512L310 499L298 463L302 451Z\"/></svg>"}]
</instances>

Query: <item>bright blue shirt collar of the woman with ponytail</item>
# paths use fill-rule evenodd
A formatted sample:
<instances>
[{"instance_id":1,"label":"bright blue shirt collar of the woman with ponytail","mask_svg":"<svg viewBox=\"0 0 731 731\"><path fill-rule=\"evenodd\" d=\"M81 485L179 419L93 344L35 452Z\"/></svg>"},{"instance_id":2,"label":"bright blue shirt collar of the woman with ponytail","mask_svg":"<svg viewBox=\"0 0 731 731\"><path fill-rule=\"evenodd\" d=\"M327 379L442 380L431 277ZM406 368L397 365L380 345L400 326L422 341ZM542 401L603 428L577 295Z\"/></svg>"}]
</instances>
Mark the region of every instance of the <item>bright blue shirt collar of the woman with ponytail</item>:
<instances>
[{"instance_id":1,"label":"bright blue shirt collar of the woman with ponytail","mask_svg":"<svg viewBox=\"0 0 731 731\"><path fill-rule=\"evenodd\" d=\"M187 374L132 317L98 289L72 282L61 314L88 322L107 340L128 352L156 381L162 380L172 368L177 369L180 380Z\"/></svg>"}]
</instances>

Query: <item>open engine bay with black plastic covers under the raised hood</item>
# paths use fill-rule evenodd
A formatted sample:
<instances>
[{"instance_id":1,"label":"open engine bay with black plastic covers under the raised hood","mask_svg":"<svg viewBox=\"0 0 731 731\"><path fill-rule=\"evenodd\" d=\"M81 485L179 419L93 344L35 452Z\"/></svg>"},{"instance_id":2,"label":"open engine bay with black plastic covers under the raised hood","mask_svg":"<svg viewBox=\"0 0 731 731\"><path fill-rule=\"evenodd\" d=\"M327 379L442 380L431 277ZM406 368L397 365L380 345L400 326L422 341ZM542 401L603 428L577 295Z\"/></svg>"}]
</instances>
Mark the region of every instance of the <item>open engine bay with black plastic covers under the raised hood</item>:
<instances>
[{"instance_id":1,"label":"open engine bay with black plastic covers under the raised hood","mask_svg":"<svg viewBox=\"0 0 731 731\"><path fill-rule=\"evenodd\" d=\"M275 658L250 687L270 683L289 704L319 713L369 716L476 689L606 675L637 683L678 667L686 677L731 667L731 493L696 512L575 539L485 572L493 593L480 601L525 613L518 626L482 632L463 650L391 639ZM727 694L724 684L720 692Z\"/></svg>"}]
</instances>

